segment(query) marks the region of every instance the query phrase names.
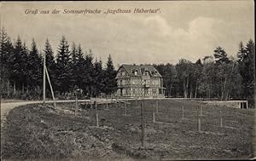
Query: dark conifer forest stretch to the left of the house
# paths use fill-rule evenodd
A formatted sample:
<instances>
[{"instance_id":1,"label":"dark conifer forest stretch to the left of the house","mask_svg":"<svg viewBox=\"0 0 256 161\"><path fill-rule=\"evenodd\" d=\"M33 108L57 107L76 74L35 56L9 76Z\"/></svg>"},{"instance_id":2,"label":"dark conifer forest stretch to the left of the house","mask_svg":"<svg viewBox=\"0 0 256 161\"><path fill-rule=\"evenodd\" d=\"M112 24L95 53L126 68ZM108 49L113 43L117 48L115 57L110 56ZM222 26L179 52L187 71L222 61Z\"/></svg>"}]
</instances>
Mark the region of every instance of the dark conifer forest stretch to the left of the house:
<instances>
[{"instance_id":1,"label":"dark conifer forest stretch to the left of the house","mask_svg":"<svg viewBox=\"0 0 256 161\"><path fill-rule=\"evenodd\" d=\"M111 55L106 67L102 60L94 59L92 50L85 52L80 44L71 47L65 36L61 37L56 55L46 39L43 53L38 50L34 39L30 47L20 37L12 42L6 30L0 33L1 95L3 98L41 99L43 94L43 64L58 97L69 96L79 89L79 94L96 97L111 95L116 89L116 71ZM46 94L50 96L46 82Z\"/></svg>"}]
</instances>

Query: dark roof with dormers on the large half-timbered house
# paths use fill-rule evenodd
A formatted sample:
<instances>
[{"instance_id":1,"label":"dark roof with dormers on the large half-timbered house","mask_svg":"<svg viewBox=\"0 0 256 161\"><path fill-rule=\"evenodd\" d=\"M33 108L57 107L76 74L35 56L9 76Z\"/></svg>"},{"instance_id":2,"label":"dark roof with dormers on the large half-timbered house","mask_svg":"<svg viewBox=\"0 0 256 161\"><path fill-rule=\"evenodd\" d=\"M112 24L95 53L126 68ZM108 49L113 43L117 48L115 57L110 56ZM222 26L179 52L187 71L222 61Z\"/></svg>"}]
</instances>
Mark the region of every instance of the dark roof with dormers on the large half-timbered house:
<instances>
[{"instance_id":1,"label":"dark roof with dormers on the large half-timbered house","mask_svg":"<svg viewBox=\"0 0 256 161\"><path fill-rule=\"evenodd\" d=\"M150 77L155 77L155 78L161 78L162 76L160 73L154 68L154 66L150 65L122 65L119 67L124 68L125 71L130 75L130 76L142 76L144 72L148 71ZM137 72L137 75L135 75L135 72Z\"/></svg>"}]
</instances>

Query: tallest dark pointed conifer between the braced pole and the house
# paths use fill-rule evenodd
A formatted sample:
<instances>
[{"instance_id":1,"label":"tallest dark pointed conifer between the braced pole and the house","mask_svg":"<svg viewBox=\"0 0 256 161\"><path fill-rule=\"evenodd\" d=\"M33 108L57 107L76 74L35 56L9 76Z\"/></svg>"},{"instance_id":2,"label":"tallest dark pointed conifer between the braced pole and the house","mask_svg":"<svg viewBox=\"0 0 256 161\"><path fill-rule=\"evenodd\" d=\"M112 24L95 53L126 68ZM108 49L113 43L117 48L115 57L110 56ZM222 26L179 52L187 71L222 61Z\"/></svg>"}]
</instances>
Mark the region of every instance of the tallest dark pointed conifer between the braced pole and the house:
<instances>
[{"instance_id":1,"label":"tallest dark pointed conifer between the braced pole and the house","mask_svg":"<svg viewBox=\"0 0 256 161\"><path fill-rule=\"evenodd\" d=\"M61 43L57 51L56 58L56 85L57 89L63 94L68 92L72 87L70 83L71 78L71 58L69 45L67 43L66 37L61 37Z\"/></svg>"}]
</instances>

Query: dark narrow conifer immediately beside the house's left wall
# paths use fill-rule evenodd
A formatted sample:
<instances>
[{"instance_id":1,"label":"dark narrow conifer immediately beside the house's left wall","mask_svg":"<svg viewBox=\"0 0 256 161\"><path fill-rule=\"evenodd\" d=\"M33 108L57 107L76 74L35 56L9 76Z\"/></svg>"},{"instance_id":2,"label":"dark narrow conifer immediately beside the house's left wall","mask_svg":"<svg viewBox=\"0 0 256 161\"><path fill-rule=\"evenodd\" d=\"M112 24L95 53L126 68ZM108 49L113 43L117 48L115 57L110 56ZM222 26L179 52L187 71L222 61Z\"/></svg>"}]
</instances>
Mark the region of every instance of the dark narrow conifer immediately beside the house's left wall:
<instances>
[{"instance_id":1,"label":"dark narrow conifer immediately beside the house's left wall","mask_svg":"<svg viewBox=\"0 0 256 161\"><path fill-rule=\"evenodd\" d=\"M104 80L105 93L107 95L113 94L113 92L116 90L116 87L117 87L117 80L115 79L116 71L114 70L114 67L113 67L113 60L111 58L111 55L108 56L107 68L105 70L104 75L105 75L105 80Z\"/></svg>"}]
</instances>

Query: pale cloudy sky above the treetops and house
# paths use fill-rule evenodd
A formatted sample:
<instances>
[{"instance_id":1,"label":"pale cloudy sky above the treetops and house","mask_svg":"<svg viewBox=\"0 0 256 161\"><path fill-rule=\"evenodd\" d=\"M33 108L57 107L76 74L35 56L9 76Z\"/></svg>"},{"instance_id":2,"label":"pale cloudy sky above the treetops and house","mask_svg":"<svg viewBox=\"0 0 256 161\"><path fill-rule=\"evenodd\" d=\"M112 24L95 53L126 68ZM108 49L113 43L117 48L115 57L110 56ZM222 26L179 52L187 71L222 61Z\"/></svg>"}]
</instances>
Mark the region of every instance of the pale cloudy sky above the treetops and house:
<instances>
[{"instance_id":1,"label":"pale cloudy sky above the treetops and house","mask_svg":"<svg viewBox=\"0 0 256 161\"><path fill-rule=\"evenodd\" d=\"M26 9L61 10L61 14L25 14ZM63 9L131 9L131 14L62 14ZM134 9L160 9L134 14ZM236 55L238 44L254 41L253 1L167 2L1 2L1 26L12 38L32 38L44 49L46 38L56 53L61 35L68 43L92 49L105 64L176 64L181 58L202 59L218 46Z\"/></svg>"}]
</instances>

